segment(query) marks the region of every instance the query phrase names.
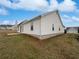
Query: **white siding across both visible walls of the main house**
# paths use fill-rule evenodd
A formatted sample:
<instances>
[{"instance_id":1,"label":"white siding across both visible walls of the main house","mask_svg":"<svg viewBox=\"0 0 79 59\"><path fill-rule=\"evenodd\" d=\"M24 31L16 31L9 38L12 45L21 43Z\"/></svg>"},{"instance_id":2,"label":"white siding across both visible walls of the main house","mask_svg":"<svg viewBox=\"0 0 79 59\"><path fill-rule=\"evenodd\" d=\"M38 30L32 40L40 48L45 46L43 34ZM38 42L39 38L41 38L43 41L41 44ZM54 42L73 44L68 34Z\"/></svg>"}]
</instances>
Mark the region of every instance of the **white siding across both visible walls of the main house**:
<instances>
[{"instance_id":1,"label":"white siding across both visible walls of the main house","mask_svg":"<svg viewBox=\"0 0 79 59\"><path fill-rule=\"evenodd\" d=\"M24 23L22 33L34 35L64 33L64 27L61 24L58 13L51 12L49 14L35 18L28 23Z\"/></svg>"}]
</instances>

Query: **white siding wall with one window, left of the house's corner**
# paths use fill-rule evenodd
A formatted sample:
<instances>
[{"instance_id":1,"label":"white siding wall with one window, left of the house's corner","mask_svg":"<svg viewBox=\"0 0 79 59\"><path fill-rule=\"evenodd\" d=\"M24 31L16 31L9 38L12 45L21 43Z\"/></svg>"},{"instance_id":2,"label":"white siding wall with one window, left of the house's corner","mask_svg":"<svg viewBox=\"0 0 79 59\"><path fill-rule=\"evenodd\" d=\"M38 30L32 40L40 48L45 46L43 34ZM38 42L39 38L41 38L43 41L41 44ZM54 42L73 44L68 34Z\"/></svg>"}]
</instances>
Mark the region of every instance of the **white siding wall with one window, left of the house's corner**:
<instances>
[{"instance_id":1,"label":"white siding wall with one window, left of the house's corner","mask_svg":"<svg viewBox=\"0 0 79 59\"><path fill-rule=\"evenodd\" d=\"M40 18L24 24L23 33L40 35Z\"/></svg>"}]
</instances>

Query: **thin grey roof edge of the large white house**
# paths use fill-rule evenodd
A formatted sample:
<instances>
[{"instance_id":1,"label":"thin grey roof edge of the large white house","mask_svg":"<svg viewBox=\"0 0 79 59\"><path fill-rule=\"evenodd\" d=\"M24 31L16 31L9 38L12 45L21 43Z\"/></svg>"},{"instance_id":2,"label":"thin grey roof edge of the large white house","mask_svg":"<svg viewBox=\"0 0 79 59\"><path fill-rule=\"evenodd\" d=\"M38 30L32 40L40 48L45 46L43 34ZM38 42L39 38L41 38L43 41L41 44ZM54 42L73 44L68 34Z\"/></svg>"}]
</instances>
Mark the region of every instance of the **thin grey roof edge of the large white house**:
<instances>
[{"instance_id":1,"label":"thin grey roof edge of the large white house","mask_svg":"<svg viewBox=\"0 0 79 59\"><path fill-rule=\"evenodd\" d=\"M41 16L48 15L48 14L50 14L50 13L52 13L52 12L53 12L53 13L54 13L54 12L57 12L57 13L58 13L58 16L59 16L59 18L60 18L60 22L61 22L62 26L65 27L65 26L63 25L63 23L62 23L62 20L61 20L61 17L60 17L60 15L59 15L59 11L58 11L58 10L43 13L43 14L41 14L41 15L35 16L34 18L32 18L32 19L30 19L30 20L24 20L24 21L22 21L21 23L19 23L18 26L19 26L20 24L25 24L25 23L34 21L34 20L36 20L36 18L41 18Z\"/></svg>"}]
</instances>

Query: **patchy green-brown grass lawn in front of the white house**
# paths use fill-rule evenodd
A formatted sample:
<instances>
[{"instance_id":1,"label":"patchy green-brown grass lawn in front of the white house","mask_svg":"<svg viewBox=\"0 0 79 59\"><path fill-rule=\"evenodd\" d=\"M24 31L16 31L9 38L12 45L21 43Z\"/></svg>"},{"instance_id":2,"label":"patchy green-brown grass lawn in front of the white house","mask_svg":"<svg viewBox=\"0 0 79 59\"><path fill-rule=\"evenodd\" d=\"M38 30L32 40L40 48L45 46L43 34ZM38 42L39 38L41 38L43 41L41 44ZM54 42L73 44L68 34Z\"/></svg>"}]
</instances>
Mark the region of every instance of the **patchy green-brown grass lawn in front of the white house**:
<instances>
[{"instance_id":1,"label":"patchy green-brown grass lawn in front of the white house","mask_svg":"<svg viewBox=\"0 0 79 59\"><path fill-rule=\"evenodd\" d=\"M79 59L76 34L46 40L29 35L0 35L0 59Z\"/></svg>"}]
</instances>

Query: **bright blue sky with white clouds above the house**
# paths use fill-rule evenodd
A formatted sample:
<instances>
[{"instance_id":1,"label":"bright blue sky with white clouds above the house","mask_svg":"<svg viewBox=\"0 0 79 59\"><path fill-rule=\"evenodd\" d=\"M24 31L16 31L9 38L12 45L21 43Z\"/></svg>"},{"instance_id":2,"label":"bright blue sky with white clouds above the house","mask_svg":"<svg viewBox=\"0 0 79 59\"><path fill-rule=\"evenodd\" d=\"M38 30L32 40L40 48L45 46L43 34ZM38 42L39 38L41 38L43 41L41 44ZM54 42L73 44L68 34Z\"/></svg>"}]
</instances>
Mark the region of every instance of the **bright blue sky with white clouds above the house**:
<instances>
[{"instance_id":1,"label":"bright blue sky with white clouds above the house","mask_svg":"<svg viewBox=\"0 0 79 59\"><path fill-rule=\"evenodd\" d=\"M56 9L65 26L79 26L79 0L0 0L0 24L14 24Z\"/></svg>"}]
</instances>

